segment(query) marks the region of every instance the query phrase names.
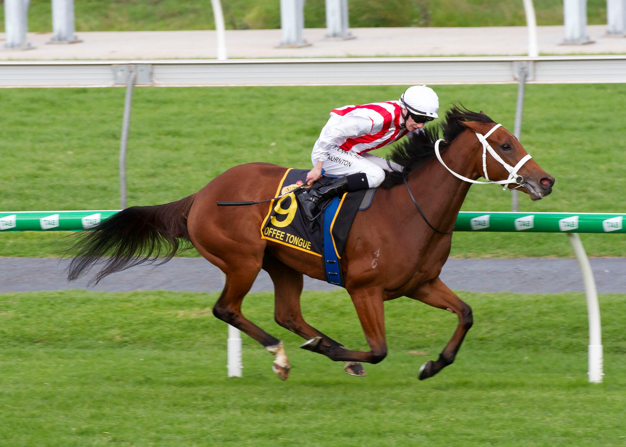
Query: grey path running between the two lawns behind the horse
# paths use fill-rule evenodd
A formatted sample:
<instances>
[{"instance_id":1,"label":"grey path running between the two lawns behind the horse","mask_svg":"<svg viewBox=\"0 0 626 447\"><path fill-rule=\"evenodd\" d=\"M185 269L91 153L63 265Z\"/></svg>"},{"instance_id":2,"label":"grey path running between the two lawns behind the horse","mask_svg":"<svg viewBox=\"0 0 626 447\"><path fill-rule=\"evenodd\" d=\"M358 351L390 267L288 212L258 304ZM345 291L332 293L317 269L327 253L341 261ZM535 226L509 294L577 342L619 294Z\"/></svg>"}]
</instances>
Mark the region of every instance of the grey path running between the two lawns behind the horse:
<instances>
[{"instance_id":1,"label":"grey path running between the two lawns behind the horse","mask_svg":"<svg viewBox=\"0 0 626 447\"><path fill-rule=\"evenodd\" d=\"M140 265L112 274L95 287L88 278L68 283L67 260L0 258L0 290L88 289L106 292L173 290L215 292L222 289L221 272L200 258L175 258L159 267ZM599 293L626 293L626 257L591 259ZM583 292L575 259L449 259L441 279L454 290L473 292ZM305 277L305 290L332 290L336 286ZM252 292L273 290L262 270Z\"/></svg>"}]
</instances>

